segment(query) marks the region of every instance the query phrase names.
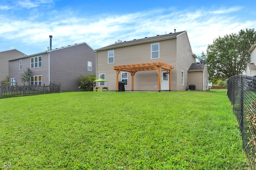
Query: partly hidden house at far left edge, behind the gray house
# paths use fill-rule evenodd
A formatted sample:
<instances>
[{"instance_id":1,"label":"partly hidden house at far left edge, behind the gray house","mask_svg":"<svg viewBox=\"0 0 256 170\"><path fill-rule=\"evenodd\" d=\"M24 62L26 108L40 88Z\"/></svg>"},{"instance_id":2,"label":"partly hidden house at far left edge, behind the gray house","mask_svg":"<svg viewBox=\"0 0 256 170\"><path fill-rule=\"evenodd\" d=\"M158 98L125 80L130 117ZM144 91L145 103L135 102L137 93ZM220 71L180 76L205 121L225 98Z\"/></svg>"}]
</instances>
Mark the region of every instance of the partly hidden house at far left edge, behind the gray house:
<instances>
[{"instance_id":1,"label":"partly hidden house at far left edge, behind the gray house","mask_svg":"<svg viewBox=\"0 0 256 170\"><path fill-rule=\"evenodd\" d=\"M0 52L0 82L5 80L6 76L9 76L9 63L7 60L20 56L25 56L25 54L16 49Z\"/></svg>"}]
</instances>

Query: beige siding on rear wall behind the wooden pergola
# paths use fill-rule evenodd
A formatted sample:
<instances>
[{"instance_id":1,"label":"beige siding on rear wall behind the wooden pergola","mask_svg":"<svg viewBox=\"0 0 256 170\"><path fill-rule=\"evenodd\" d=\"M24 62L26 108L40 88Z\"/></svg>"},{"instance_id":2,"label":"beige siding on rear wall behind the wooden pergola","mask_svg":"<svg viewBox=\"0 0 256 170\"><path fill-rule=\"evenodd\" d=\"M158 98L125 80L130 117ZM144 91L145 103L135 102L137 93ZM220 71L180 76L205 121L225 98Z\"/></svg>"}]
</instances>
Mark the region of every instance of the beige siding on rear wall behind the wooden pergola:
<instances>
[{"instance_id":1,"label":"beige siding on rear wall behind the wooden pergola","mask_svg":"<svg viewBox=\"0 0 256 170\"><path fill-rule=\"evenodd\" d=\"M151 44L159 43L159 59L151 59ZM108 64L108 51L114 50L114 63ZM124 64L152 63L162 61L176 67L176 39L155 41L126 47L119 47L97 52L97 78L105 73L108 89L116 90L116 70L114 66ZM172 77L175 77L175 68ZM121 74L118 74L121 81ZM173 80L173 78L172 78ZM99 84L98 84L99 85ZM97 85L97 86L98 86ZM155 88L154 86L157 86ZM172 88L175 89L175 78ZM131 74L128 73L128 86L125 90L132 90ZM158 90L158 75L156 70L139 71L134 75L134 90Z\"/></svg>"}]
</instances>

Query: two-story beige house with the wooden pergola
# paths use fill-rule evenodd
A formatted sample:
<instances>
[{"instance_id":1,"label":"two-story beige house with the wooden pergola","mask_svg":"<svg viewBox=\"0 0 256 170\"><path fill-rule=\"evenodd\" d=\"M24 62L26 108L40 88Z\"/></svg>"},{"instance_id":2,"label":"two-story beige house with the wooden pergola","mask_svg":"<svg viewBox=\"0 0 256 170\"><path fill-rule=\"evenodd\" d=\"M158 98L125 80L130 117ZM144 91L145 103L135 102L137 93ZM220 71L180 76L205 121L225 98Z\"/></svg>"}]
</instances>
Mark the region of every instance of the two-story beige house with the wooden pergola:
<instances>
[{"instance_id":1,"label":"two-story beige house with the wooden pergola","mask_svg":"<svg viewBox=\"0 0 256 170\"><path fill-rule=\"evenodd\" d=\"M188 68L196 62L186 31L124 41L96 53L96 78L116 91L118 81L125 90L187 90Z\"/></svg>"}]
</instances>

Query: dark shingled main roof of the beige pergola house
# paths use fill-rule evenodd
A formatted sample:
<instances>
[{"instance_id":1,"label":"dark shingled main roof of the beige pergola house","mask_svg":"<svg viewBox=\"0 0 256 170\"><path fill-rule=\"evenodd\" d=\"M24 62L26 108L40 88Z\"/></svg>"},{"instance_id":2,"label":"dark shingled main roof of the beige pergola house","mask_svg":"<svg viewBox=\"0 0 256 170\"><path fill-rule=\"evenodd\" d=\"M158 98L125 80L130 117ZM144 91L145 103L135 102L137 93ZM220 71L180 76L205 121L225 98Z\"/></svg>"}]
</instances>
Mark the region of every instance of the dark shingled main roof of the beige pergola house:
<instances>
[{"instance_id":1,"label":"dark shingled main roof of the beige pergola house","mask_svg":"<svg viewBox=\"0 0 256 170\"><path fill-rule=\"evenodd\" d=\"M181 35L183 33L186 33L186 31L181 31L181 32L177 32L177 33L168 33L165 35L156 35L154 37L145 37L143 39L134 39L132 41L124 41L122 43L115 43L112 45L108 45L106 47L102 47L100 49L96 49L95 51L102 51L102 50L112 49L112 48L117 48L117 47L124 47L124 46L153 42L153 41L158 41L158 40L177 38L179 35Z\"/></svg>"}]
</instances>

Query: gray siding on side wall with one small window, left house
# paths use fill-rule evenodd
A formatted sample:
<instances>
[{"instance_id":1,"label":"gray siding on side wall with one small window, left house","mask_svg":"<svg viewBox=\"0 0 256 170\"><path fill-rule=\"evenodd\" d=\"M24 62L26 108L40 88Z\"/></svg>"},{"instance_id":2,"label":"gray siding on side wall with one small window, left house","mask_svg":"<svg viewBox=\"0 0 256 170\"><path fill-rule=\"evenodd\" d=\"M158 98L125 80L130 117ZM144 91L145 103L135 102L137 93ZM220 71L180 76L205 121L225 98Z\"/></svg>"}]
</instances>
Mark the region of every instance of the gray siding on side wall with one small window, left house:
<instances>
[{"instance_id":1,"label":"gray siding on side wall with one small window, left house","mask_svg":"<svg viewBox=\"0 0 256 170\"><path fill-rule=\"evenodd\" d=\"M88 61L92 71L88 71ZM96 53L86 43L50 51L50 81L61 84L61 90L78 90L80 75L95 74Z\"/></svg>"}]
</instances>

